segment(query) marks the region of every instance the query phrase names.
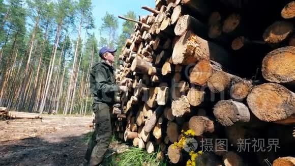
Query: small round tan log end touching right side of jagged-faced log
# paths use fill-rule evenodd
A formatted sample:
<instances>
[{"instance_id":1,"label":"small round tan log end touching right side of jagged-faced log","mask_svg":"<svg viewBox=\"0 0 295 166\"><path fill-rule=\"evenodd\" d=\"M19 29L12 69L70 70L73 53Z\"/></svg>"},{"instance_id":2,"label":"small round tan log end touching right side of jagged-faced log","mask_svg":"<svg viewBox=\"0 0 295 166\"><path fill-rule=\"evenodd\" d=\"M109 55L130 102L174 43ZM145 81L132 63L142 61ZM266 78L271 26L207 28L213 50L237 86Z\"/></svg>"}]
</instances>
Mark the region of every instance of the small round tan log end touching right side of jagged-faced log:
<instances>
[{"instance_id":1,"label":"small round tan log end touching right side of jagged-faced log","mask_svg":"<svg viewBox=\"0 0 295 166\"><path fill-rule=\"evenodd\" d=\"M190 105L198 106L204 100L204 91L200 87L190 88L187 98Z\"/></svg>"}]
</instances>

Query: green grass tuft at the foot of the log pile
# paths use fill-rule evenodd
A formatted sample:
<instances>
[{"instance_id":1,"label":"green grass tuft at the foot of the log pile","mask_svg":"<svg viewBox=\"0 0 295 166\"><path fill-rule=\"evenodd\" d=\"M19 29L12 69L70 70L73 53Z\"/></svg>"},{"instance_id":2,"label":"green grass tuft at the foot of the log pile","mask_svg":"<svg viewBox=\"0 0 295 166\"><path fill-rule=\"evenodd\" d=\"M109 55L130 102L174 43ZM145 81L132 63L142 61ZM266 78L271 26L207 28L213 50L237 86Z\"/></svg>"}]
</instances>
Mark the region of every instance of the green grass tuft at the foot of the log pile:
<instances>
[{"instance_id":1,"label":"green grass tuft at the foot of the log pile","mask_svg":"<svg viewBox=\"0 0 295 166\"><path fill-rule=\"evenodd\" d=\"M104 159L103 165L111 165L111 166L156 166L156 165L165 165L166 160L158 160L157 152L147 153L146 150L130 147L127 151L114 154Z\"/></svg>"}]
</instances>

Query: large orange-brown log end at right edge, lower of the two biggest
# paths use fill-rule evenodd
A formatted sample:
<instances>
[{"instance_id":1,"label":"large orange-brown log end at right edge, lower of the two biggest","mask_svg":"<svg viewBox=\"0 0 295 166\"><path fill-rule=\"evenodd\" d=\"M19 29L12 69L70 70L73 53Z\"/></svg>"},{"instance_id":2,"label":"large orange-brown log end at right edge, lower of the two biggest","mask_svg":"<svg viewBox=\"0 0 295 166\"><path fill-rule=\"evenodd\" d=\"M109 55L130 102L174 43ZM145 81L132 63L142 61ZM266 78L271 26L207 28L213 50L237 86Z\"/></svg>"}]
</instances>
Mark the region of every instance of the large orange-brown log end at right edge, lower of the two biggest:
<instances>
[{"instance_id":1,"label":"large orange-brown log end at right edge, lower of the two biggest","mask_svg":"<svg viewBox=\"0 0 295 166\"><path fill-rule=\"evenodd\" d=\"M254 87L247 97L247 103L261 121L282 124L295 122L291 117L295 114L295 94L279 84L265 83Z\"/></svg>"}]
</instances>

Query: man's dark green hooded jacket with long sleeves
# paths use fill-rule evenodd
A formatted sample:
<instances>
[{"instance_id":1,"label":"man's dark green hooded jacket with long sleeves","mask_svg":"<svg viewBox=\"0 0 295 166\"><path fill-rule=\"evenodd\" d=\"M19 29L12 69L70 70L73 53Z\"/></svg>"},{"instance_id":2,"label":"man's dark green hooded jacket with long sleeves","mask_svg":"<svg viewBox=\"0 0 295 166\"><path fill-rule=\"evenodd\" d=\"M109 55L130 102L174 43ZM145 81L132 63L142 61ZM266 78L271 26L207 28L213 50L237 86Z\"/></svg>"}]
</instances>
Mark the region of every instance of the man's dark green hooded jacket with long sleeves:
<instances>
[{"instance_id":1,"label":"man's dark green hooded jacket with long sleeves","mask_svg":"<svg viewBox=\"0 0 295 166\"><path fill-rule=\"evenodd\" d=\"M114 94L120 91L115 85L114 68L103 60L94 64L90 73L90 89L94 103L114 104Z\"/></svg>"}]
</instances>

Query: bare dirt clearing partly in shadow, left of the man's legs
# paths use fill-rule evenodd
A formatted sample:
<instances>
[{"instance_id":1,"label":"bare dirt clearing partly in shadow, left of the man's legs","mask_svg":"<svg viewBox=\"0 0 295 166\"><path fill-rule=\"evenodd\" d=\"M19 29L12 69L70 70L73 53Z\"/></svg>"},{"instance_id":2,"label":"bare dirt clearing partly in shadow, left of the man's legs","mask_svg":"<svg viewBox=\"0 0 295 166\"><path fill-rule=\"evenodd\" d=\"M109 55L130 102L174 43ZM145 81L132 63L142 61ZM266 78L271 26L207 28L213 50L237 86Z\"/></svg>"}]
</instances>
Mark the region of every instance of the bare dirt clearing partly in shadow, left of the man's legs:
<instances>
[{"instance_id":1,"label":"bare dirt clearing partly in shadow, left of the man's legs","mask_svg":"<svg viewBox=\"0 0 295 166\"><path fill-rule=\"evenodd\" d=\"M91 117L0 121L0 165L79 165Z\"/></svg>"}]
</instances>

